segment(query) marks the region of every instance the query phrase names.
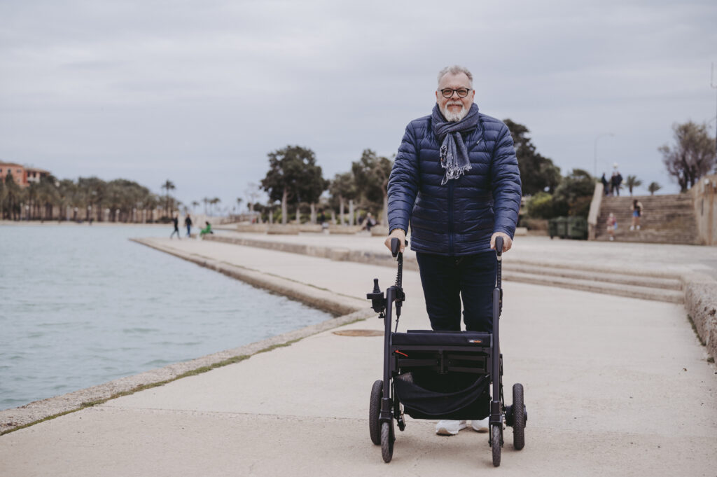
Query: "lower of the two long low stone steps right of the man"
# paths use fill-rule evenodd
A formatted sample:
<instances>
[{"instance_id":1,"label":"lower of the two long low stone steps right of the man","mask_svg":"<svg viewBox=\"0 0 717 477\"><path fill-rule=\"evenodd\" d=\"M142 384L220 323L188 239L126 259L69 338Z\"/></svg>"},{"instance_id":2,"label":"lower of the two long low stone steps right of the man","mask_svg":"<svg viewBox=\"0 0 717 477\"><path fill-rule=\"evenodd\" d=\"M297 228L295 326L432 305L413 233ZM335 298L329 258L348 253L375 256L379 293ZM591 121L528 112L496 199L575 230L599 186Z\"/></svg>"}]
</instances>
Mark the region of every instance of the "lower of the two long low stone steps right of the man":
<instances>
[{"instance_id":1,"label":"lower of the two long low stone steps right of the man","mask_svg":"<svg viewBox=\"0 0 717 477\"><path fill-rule=\"evenodd\" d=\"M507 281L531 283L533 285L546 285L571 290L589 291L592 293L606 293L608 295L626 296L629 298L642 298L644 300L666 301L668 303L685 303L685 295L681 291L651 288L639 285L625 285L623 283L606 283L595 280L578 280L534 273L521 273L508 270L503 272Z\"/></svg>"}]
</instances>

